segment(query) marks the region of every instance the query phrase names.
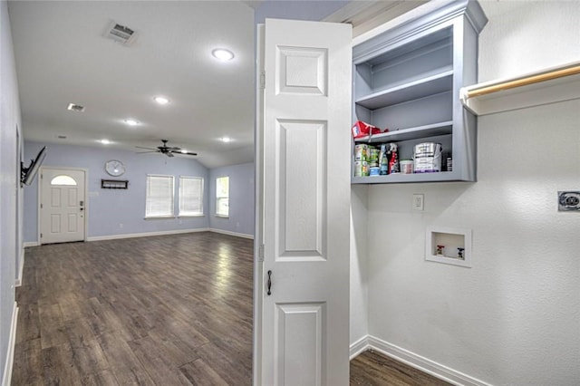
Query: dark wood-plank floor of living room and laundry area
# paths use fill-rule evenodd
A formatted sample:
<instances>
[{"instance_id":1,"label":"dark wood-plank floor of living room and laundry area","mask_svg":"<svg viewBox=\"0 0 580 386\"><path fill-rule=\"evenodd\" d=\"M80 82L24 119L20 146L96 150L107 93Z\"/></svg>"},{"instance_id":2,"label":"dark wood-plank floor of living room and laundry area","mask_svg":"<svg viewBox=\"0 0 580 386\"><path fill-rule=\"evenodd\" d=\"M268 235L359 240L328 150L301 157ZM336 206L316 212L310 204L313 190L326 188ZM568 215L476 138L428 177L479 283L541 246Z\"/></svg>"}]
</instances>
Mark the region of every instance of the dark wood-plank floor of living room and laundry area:
<instances>
[{"instance_id":1,"label":"dark wood-plank floor of living room and laundry area","mask_svg":"<svg viewBox=\"0 0 580 386\"><path fill-rule=\"evenodd\" d=\"M12 384L250 385L252 272L252 240L210 232L27 248ZM351 385L442 384L351 362Z\"/></svg>"}]
</instances>

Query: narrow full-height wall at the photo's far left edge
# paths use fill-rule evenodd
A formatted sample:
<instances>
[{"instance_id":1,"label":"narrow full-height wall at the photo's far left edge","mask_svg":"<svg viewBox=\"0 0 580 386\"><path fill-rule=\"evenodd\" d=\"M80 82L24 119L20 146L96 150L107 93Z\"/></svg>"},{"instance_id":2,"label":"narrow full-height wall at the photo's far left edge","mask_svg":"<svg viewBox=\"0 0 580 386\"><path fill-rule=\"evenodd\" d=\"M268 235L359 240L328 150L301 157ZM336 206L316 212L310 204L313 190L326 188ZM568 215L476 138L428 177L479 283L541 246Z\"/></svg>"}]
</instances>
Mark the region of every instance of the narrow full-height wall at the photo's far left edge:
<instances>
[{"instance_id":1,"label":"narrow full-height wall at the photo's far left edge","mask_svg":"<svg viewBox=\"0 0 580 386\"><path fill-rule=\"evenodd\" d=\"M18 145L20 104L7 3L0 2L0 380L5 381L14 316L14 279L20 265Z\"/></svg>"}]
</instances>

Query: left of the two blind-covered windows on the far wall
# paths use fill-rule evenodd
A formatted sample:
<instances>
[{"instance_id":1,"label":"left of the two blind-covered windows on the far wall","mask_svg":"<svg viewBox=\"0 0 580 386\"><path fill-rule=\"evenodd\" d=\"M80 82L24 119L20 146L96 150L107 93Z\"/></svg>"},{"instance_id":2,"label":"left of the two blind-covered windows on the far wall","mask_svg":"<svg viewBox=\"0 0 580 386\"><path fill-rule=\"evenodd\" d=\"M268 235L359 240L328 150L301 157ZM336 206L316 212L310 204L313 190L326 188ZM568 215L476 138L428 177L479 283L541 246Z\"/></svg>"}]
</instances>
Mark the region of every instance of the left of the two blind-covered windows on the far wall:
<instances>
[{"instance_id":1,"label":"left of the two blind-covered windows on the far wall","mask_svg":"<svg viewBox=\"0 0 580 386\"><path fill-rule=\"evenodd\" d=\"M147 175L145 218L173 217L173 176Z\"/></svg>"}]
</instances>

